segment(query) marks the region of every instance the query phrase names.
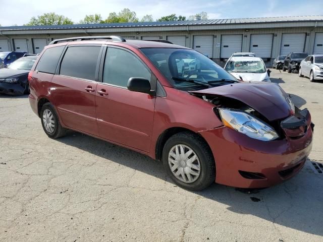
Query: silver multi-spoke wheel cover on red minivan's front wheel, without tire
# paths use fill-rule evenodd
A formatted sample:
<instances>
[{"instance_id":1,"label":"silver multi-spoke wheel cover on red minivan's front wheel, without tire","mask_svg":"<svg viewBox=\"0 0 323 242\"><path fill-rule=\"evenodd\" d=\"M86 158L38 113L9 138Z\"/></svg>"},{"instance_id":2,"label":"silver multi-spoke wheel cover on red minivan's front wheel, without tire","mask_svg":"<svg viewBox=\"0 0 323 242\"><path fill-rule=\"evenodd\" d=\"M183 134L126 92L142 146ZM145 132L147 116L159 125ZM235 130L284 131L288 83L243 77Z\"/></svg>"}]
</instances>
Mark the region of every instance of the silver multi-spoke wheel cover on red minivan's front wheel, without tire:
<instances>
[{"instance_id":1,"label":"silver multi-spoke wheel cover on red minivan's front wheel, without tire","mask_svg":"<svg viewBox=\"0 0 323 242\"><path fill-rule=\"evenodd\" d=\"M174 176L183 183L193 183L201 172L201 164L196 153L188 146L178 144L168 155L168 164Z\"/></svg>"}]
</instances>

